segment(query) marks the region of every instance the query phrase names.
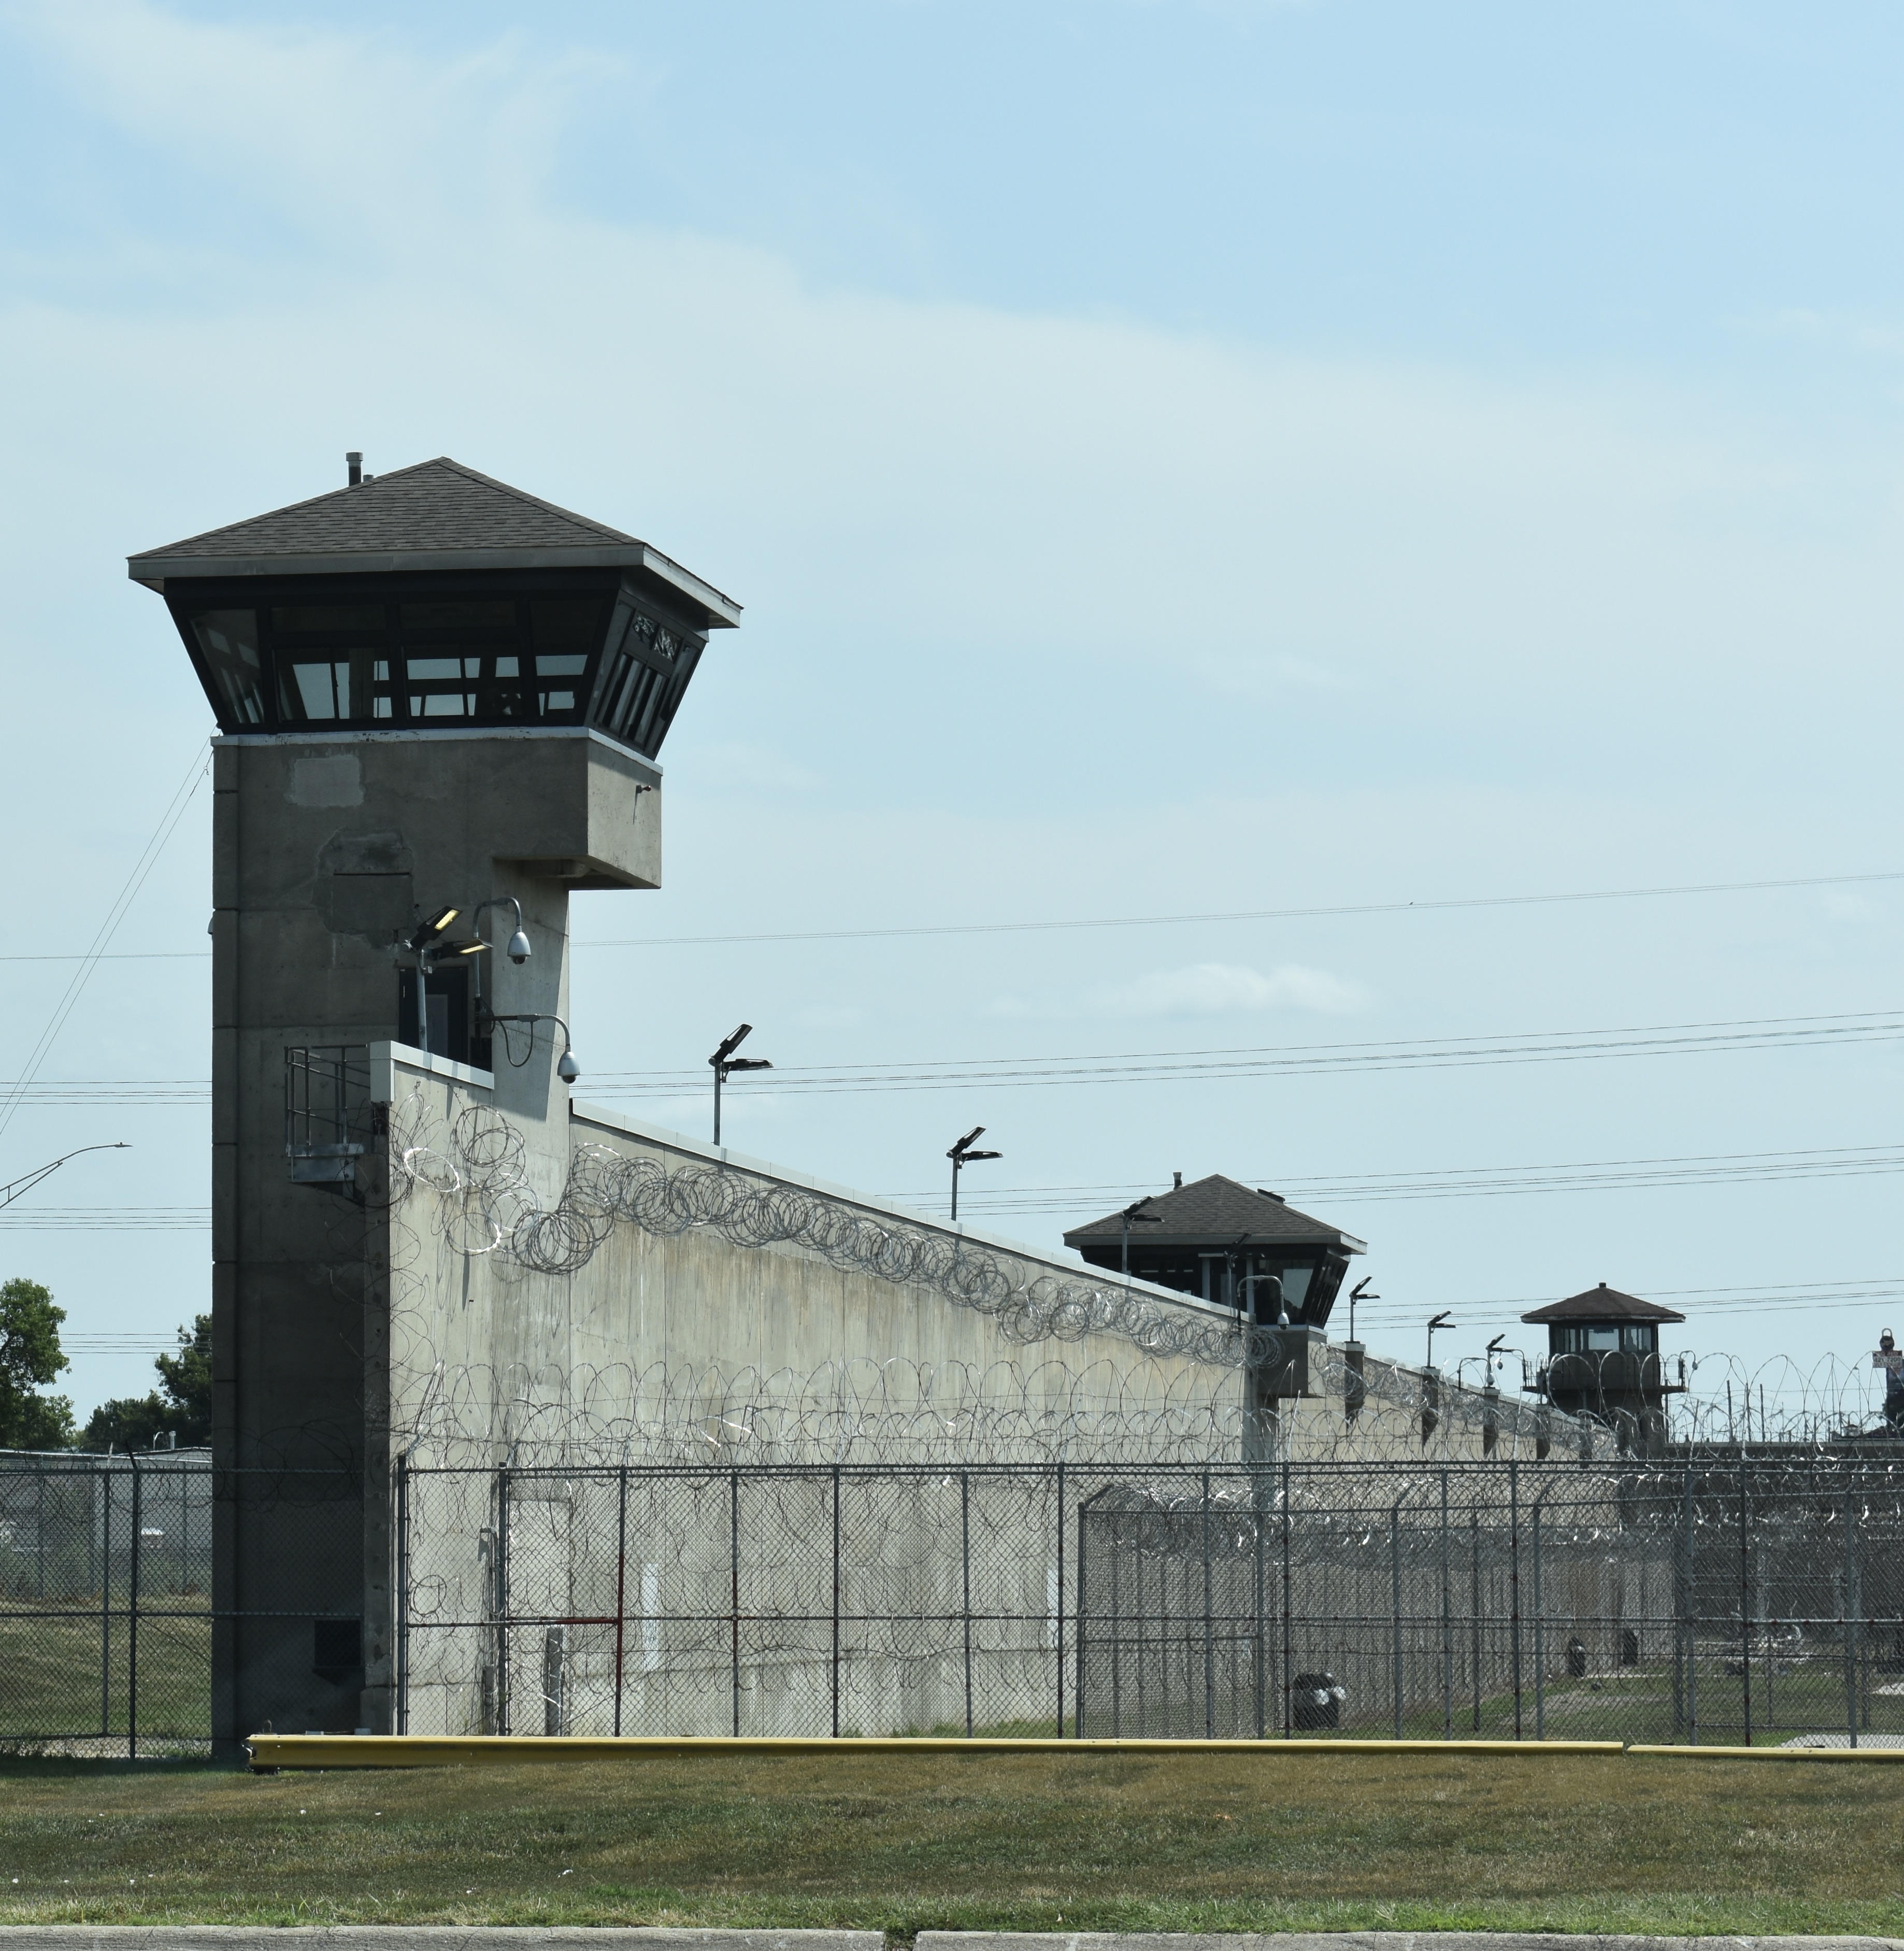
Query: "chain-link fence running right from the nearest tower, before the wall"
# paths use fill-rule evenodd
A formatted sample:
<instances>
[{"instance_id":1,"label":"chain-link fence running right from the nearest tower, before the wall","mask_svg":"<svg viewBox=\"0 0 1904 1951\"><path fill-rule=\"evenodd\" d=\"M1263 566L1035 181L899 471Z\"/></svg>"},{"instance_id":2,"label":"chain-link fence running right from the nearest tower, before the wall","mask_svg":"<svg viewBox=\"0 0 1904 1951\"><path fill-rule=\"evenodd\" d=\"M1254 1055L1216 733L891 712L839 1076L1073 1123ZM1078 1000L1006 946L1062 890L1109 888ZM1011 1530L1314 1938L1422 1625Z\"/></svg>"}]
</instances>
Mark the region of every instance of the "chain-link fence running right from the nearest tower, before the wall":
<instances>
[{"instance_id":1,"label":"chain-link fence running right from the nearest tower, before the wall","mask_svg":"<svg viewBox=\"0 0 1904 1951\"><path fill-rule=\"evenodd\" d=\"M402 1483L408 1732L1904 1740L1904 1469Z\"/></svg>"}]
</instances>

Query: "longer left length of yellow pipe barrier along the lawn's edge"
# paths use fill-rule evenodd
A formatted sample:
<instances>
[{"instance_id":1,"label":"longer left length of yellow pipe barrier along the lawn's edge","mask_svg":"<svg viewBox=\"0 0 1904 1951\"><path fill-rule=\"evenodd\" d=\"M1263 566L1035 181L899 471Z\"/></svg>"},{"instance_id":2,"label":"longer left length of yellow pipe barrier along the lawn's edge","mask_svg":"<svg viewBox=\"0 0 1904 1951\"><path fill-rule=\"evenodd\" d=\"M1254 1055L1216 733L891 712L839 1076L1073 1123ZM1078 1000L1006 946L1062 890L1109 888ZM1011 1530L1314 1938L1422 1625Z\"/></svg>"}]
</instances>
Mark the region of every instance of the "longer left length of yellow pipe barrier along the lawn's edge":
<instances>
[{"instance_id":1,"label":"longer left length of yellow pipe barrier along the lawn's edge","mask_svg":"<svg viewBox=\"0 0 1904 1951\"><path fill-rule=\"evenodd\" d=\"M254 1770L466 1768L689 1754L1619 1754L1617 1740L993 1740L730 1734L254 1734Z\"/></svg>"}]
</instances>

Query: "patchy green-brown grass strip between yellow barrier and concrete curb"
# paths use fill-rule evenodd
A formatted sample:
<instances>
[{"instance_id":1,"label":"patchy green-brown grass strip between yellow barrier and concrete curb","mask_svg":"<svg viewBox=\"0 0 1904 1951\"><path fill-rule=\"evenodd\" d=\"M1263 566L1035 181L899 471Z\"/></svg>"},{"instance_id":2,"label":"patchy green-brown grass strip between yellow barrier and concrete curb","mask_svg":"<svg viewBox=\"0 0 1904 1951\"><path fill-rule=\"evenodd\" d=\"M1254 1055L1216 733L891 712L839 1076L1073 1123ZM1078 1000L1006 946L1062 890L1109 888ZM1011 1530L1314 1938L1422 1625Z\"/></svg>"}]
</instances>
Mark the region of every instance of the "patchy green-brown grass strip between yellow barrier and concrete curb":
<instances>
[{"instance_id":1,"label":"patchy green-brown grass strip between yellow barrier and concrete curb","mask_svg":"<svg viewBox=\"0 0 1904 1951\"><path fill-rule=\"evenodd\" d=\"M0 1762L0 1922L1904 1933L1904 1768Z\"/></svg>"}]
</instances>

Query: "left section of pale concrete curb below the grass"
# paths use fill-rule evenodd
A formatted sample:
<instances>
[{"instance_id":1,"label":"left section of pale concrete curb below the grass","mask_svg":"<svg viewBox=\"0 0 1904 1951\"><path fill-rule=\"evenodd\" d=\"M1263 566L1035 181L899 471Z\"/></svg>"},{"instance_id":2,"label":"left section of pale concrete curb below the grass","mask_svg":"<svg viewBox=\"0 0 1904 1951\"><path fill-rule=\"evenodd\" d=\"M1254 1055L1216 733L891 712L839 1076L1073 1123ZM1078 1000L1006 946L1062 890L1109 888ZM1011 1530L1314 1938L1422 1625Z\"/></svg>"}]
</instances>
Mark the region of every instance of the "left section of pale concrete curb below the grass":
<instances>
[{"instance_id":1,"label":"left section of pale concrete curb below the grass","mask_svg":"<svg viewBox=\"0 0 1904 1951\"><path fill-rule=\"evenodd\" d=\"M466 1924L12 1924L8 1951L884 1951L884 1931L519 1930Z\"/></svg>"}]
</instances>

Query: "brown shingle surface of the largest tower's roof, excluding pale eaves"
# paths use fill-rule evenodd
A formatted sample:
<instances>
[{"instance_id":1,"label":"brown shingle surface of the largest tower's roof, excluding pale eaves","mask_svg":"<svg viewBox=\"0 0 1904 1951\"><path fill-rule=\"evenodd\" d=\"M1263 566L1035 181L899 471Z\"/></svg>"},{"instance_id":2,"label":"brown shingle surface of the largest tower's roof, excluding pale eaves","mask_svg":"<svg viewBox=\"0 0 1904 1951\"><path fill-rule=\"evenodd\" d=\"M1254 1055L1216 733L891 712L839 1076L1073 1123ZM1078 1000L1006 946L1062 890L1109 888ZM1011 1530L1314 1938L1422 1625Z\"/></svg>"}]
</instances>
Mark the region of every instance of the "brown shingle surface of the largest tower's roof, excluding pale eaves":
<instances>
[{"instance_id":1,"label":"brown shingle surface of the largest tower's roof, excluding pale eaves","mask_svg":"<svg viewBox=\"0 0 1904 1951\"><path fill-rule=\"evenodd\" d=\"M421 550L640 546L605 523L538 501L460 460L419 460L310 501L207 529L133 562L166 556L382 556Z\"/></svg>"}]
</instances>

